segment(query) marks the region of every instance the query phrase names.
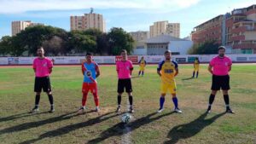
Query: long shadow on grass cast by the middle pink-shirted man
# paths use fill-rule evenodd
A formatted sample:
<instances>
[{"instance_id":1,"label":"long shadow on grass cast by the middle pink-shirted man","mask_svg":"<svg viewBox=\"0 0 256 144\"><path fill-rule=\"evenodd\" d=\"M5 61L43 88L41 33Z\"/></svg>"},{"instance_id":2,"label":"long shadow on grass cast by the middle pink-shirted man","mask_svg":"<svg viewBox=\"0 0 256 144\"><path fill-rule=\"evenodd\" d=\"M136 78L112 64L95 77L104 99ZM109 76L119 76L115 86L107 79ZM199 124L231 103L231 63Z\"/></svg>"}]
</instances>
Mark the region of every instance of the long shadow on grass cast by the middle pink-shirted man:
<instances>
[{"instance_id":1,"label":"long shadow on grass cast by the middle pink-shirted man","mask_svg":"<svg viewBox=\"0 0 256 144\"><path fill-rule=\"evenodd\" d=\"M111 115L111 116L108 116L112 113L114 113L114 114ZM81 123L78 123L78 124L71 124L71 125L67 125L65 127L59 128L57 130L51 130L51 131L48 131L48 132L46 132L42 135L39 135L39 137L36 138L36 139L23 141L20 144L34 143L36 141L43 140L44 138L48 138L48 137L52 138L52 137L55 137L55 136L65 135L65 134L69 133L70 131L79 130L79 129L82 129L82 128L87 127L87 126L91 126L93 124L101 123L105 120L108 120L109 118L113 118L113 117L118 116L115 113L116 112L108 112L108 113L102 114L99 117L91 118L90 120L88 120L86 122L81 122Z\"/></svg>"}]
</instances>

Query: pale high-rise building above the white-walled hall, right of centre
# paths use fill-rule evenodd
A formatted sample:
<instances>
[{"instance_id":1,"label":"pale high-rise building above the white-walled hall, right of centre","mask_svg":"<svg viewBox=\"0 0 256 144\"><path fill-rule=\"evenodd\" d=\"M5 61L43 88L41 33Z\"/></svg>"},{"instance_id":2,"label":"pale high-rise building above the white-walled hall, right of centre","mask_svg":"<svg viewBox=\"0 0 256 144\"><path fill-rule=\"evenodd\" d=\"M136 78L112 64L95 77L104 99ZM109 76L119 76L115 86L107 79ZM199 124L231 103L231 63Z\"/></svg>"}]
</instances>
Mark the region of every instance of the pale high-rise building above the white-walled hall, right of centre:
<instances>
[{"instance_id":1,"label":"pale high-rise building above the white-walled hall, right of centre","mask_svg":"<svg viewBox=\"0 0 256 144\"><path fill-rule=\"evenodd\" d=\"M165 21L156 21L153 26L149 26L150 37L156 37L162 34L172 37L180 37L180 24L168 23Z\"/></svg>"}]
</instances>

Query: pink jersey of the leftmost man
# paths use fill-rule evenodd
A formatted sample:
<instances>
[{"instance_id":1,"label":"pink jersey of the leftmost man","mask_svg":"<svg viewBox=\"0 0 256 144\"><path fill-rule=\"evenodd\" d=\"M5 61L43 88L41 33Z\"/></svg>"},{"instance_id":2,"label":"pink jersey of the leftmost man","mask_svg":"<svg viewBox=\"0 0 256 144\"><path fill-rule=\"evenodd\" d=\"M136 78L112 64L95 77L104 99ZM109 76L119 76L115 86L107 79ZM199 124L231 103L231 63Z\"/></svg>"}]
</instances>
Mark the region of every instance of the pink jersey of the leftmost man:
<instances>
[{"instance_id":1,"label":"pink jersey of the leftmost man","mask_svg":"<svg viewBox=\"0 0 256 144\"><path fill-rule=\"evenodd\" d=\"M33 61L33 69L36 70L36 77L47 77L49 76L49 69L53 67L52 61L49 58L44 59L36 58Z\"/></svg>"}]
</instances>

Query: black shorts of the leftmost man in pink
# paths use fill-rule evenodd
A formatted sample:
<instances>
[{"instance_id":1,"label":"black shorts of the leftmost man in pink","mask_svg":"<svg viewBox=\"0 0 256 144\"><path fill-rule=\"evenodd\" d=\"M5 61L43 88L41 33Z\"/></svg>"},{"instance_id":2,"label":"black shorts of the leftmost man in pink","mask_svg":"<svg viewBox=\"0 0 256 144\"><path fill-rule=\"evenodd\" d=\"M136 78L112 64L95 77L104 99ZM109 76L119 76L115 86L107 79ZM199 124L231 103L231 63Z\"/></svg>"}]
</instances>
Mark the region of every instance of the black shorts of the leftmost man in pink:
<instances>
[{"instance_id":1,"label":"black shorts of the leftmost man in pink","mask_svg":"<svg viewBox=\"0 0 256 144\"><path fill-rule=\"evenodd\" d=\"M42 88L44 89L44 92L51 91L49 77L42 77L42 78L36 77L35 78L34 91L41 92Z\"/></svg>"}]
</instances>

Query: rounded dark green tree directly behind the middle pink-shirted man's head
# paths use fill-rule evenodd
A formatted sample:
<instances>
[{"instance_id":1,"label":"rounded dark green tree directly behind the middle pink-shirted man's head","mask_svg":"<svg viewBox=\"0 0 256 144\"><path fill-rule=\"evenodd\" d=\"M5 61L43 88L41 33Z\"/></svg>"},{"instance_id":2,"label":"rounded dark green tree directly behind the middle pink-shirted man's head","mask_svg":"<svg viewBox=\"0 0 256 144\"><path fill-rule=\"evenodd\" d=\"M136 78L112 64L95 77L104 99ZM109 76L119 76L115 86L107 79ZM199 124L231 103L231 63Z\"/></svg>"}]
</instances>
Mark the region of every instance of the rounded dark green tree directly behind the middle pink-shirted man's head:
<instances>
[{"instance_id":1,"label":"rounded dark green tree directly behind the middle pink-shirted man's head","mask_svg":"<svg viewBox=\"0 0 256 144\"><path fill-rule=\"evenodd\" d=\"M119 55L122 49L126 49L127 53L130 54L134 44L131 35L117 27L113 27L108 32L108 42L112 55Z\"/></svg>"}]
</instances>

